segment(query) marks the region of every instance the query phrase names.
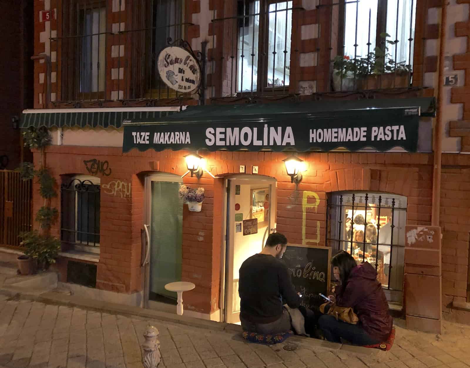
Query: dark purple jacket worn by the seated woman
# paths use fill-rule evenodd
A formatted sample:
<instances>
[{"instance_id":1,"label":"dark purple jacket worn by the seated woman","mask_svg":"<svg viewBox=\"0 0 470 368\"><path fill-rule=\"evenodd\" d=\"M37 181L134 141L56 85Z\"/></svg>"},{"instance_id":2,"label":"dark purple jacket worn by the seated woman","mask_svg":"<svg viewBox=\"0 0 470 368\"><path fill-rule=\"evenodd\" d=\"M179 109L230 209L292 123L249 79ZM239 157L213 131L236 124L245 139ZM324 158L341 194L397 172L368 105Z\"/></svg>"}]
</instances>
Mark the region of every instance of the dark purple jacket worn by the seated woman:
<instances>
[{"instance_id":1,"label":"dark purple jacket worn by the seated woman","mask_svg":"<svg viewBox=\"0 0 470 368\"><path fill-rule=\"evenodd\" d=\"M387 298L377 281L376 269L368 262L352 269L346 285L337 288L336 304L352 307L371 337L384 342L390 336L393 319L388 312Z\"/></svg>"}]
</instances>

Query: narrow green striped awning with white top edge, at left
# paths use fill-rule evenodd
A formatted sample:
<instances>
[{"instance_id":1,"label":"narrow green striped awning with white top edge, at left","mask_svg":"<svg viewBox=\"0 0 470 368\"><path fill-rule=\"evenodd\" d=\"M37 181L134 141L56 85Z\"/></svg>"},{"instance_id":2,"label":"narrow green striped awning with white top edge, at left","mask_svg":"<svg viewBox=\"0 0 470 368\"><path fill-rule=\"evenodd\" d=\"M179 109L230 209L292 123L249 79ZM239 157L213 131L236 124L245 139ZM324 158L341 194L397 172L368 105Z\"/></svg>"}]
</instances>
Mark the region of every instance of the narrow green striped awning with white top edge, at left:
<instances>
[{"instance_id":1,"label":"narrow green striped awning with white top edge, at left","mask_svg":"<svg viewBox=\"0 0 470 368\"><path fill-rule=\"evenodd\" d=\"M21 128L121 128L123 120L159 120L180 111L171 107L103 107L95 109L29 109L21 115Z\"/></svg>"}]
</instances>

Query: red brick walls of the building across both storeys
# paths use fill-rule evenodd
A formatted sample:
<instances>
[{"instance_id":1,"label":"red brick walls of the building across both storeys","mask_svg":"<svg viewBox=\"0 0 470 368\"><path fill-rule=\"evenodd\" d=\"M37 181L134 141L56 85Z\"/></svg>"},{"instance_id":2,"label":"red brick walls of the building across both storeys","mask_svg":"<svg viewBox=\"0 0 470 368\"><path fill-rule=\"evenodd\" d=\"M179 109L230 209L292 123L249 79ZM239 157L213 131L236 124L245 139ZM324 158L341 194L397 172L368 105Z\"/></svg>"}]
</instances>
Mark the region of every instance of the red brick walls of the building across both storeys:
<instances>
[{"instance_id":1,"label":"red brick walls of the building across both storeys","mask_svg":"<svg viewBox=\"0 0 470 368\"><path fill-rule=\"evenodd\" d=\"M329 4L333 1L322 1ZM457 0L457 3L468 2ZM61 8L60 0L51 0L51 9ZM107 0L108 8L112 8L113 1ZM301 7L305 1L294 0L293 7ZM437 74L438 56L427 55L425 52L426 40L439 38L439 24L428 19L432 8L440 7L441 1L417 0L415 24L415 50L413 86L423 86L426 75ZM56 52L57 42L46 40L41 42L39 33L46 32L44 22L39 22L39 12L45 10L45 1L35 0L35 53L47 51ZM208 4L199 0L185 1L185 40L190 44L197 44L200 39L209 42L207 50L208 69L207 87L212 94L206 96L207 103L214 103L210 97L226 96L230 93L232 76L232 63L230 61L229 43L226 42L234 34L223 27L224 22L210 22L197 24L202 19L202 8L208 6L210 20L216 14L217 18L229 17L236 11L235 2L210 0ZM133 22L132 5L125 2L126 11L111 13L107 19L107 30L113 24L124 22L125 27L135 26ZM131 10L129 10L129 7ZM301 40L300 27L303 25L318 24L322 32L329 33L332 27L328 7L311 8L293 12L293 27L296 32L292 35L292 49L299 53L317 52L317 64L314 66L300 66L298 53L292 53L290 60L290 86L289 93L297 94L300 81L314 80L316 90L326 90L330 82L329 44L325 37ZM129 18L129 19L128 19ZM204 25L204 26L203 26ZM57 21L54 18L50 23L50 32L57 30ZM126 28L127 29L127 28ZM204 29L207 35L202 34ZM469 36L468 22L455 24L455 36ZM60 32L60 30L58 30ZM47 35L46 35L47 36ZM44 36L43 36L44 37ZM132 64L131 52L142 45L129 39L123 34L112 35L108 38L106 55L109 58L106 70L106 91L103 106L123 107L121 98L111 98L115 92L122 91L122 98L126 99L131 90L127 73L138 67ZM49 36L47 36L47 39ZM215 41L213 41L215 40ZM47 43L49 42L49 44ZM112 46L125 45L124 56L111 57ZM194 45L193 45L194 46ZM452 89L452 103L463 104L463 120L451 122L450 136L462 137L462 152L470 151L469 142L469 108L470 108L470 69L469 54L454 55L454 69L465 70L466 77L462 87ZM59 56L52 57L52 71L57 71L56 82L52 82L51 97L61 101L61 61ZM124 68L124 78L113 80L111 69ZM39 74L46 72L46 65L36 61L34 64L34 107L69 107L57 103L46 106L45 95L48 93L46 83L39 82ZM436 77L437 79L437 77ZM408 94L433 96L436 86L415 91ZM39 98L39 95L42 96ZM52 94L55 94L52 96ZM113 95L114 96L114 95ZM390 97L390 91L381 91L377 96ZM405 96L405 95L402 95ZM303 96L312 100L312 96ZM352 97L357 98L357 96ZM113 100L113 101L108 101ZM157 105L197 104L196 97L184 100L159 100ZM81 107L96 107L93 102L80 101ZM130 101L127 106L142 106L142 102ZM98 264L97 288L120 293L133 293L141 290L141 228L144 221L144 177L148 171L159 171L182 175L186 172L183 156L187 152L137 152L123 154L119 147L77 147L77 146L50 146L47 148L47 163L54 176L61 182L61 175L88 174L83 163L84 160L107 160L112 174L100 176L101 184L122 182L129 185L129 195L116 195L115 192L102 190L101 192L101 254ZM238 173L239 165L246 165L246 172L257 165L258 174L274 177L277 182L277 231L283 232L291 243L302 243L305 240L319 245L326 243L326 199L331 192L357 190L389 192L407 197L407 223L431 224L432 207L432 176L433 155L431 153L307 153L299 157L308 164L304 179L294 192L295 184L291 184L290 177L286 175L282 160L286 154L274 152L199 152L207 159L208 167L215 176L224 177ZM38 163L39 153L34 155ZM442 227L442 280L443 280L443 311L448 319L470 322L470 314L456 312L452 309L453 301L463 301L469 292L467 272L469 266L469 232L470 232L470 157L468 155L444 154L442 169L442 191L440 203L440 225ZM185 293L185 304L191 306L196 312L211 313L220 308L219 295L221 285L221 254L223 244L224 214L220 204L223 203L225 184L223 178L212 179L204 174L197 180L185 176L185 184L197 184L205 189L202 212L189 212L185 207L183 218L183 280L196 284L196 288ZM37 188L36 188L37 189ZM315 211L306 216L305 229L302 229L302 193L314 192L318 202L312 204ZM42 205L39 196L35 198L34 212ZM60 198L53 200L53 206L60 208ZM59 236L60 224L56 224L53 233ZM204 235L200 235L204 232ZM470 302L470 300L467 300Z\"/></svg>"}]
</instances>

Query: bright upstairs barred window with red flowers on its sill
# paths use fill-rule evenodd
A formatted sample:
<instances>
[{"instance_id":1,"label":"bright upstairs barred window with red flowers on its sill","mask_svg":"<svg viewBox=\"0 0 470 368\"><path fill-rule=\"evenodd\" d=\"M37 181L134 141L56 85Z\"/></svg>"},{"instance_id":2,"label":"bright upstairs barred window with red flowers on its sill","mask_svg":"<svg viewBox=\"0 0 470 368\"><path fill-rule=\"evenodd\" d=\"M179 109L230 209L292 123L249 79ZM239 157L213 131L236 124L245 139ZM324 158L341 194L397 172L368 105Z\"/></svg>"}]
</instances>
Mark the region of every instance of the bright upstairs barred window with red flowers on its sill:
<instances>
[{"instance_id":1,"label":"bright upstairs barred window with red flowers on its sill","mask_svg":"<svg viewBox=\"0 0 470 368\"><path fill-rule=\"evenodd\" d=\"M343 56L343 67L349 64L346 78L363 77L364 73L375 76L396 73L406 78L406 86L396 86L396 80L390 84L390 78L381 77L379 85L372 83L361 88L409 86L416 0L345 0L339 3L339 19L337 58ZM335 63L335 69L339 69L338 64Z\"/></svg>"}]
</instances>

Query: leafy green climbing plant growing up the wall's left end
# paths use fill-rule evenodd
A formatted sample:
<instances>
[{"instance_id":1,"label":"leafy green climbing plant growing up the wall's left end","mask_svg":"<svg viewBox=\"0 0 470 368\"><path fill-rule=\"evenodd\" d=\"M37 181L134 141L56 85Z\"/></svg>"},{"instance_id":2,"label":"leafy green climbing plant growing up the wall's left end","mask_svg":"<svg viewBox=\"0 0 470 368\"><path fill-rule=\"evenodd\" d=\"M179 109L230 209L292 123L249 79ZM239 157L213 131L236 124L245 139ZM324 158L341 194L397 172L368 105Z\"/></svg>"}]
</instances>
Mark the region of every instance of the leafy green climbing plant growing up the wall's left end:
<instances>
[{"instance_id":1,"label":"leafy green climbing plant growing up the wall's left end","mask_svg":"<svg viewBox=\"0 0 470 368\"><path fill-rule=\"evenodd\" d=\"M61 246L60 240L50 235L51 226L57 221L59 213L57 208L51 207L51 199L57 196L57 181L45 165L45 148L51 144L52 137L46 127L31 127L23 132L23 138L25 147L40 150L40 167L35 170L33 163L23 162L16 170L21 173L23 180L31 180L34 177L38 179L39 193L44 199L44 205L36 214L36 221L39 222L42 231L24 232L20 238L22 238L22 244L25 247L24 253L37 259L39 266L47 269L49 264L55 263Z\"/></svg>"}]
</instances>

